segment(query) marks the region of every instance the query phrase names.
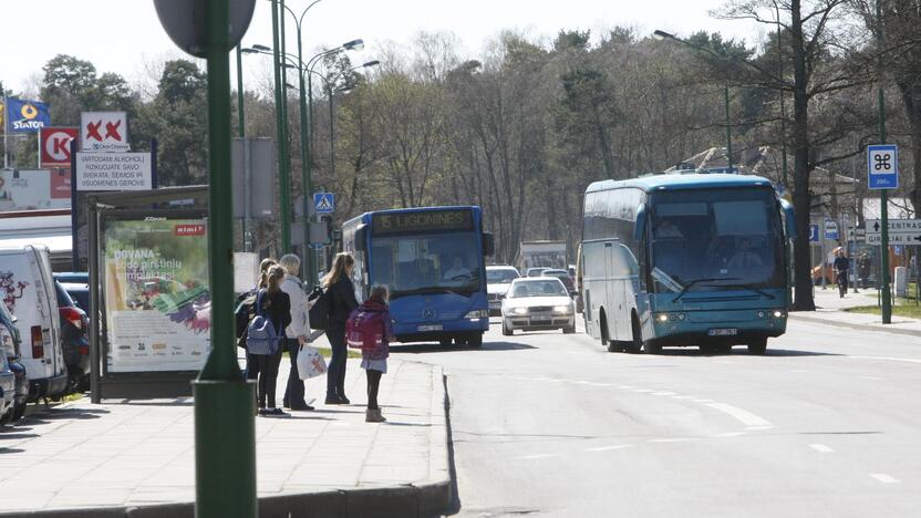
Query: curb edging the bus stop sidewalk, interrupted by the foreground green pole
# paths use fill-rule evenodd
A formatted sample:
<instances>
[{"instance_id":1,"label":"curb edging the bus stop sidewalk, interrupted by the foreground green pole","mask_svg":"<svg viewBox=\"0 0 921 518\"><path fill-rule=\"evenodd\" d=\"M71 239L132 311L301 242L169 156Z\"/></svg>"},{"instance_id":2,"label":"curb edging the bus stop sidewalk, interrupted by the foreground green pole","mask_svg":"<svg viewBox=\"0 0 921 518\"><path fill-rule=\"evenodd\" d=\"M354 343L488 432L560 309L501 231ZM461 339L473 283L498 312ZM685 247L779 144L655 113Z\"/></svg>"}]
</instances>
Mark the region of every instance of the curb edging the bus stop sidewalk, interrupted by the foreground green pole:
<instances>
[{"instance_id":1,"label":"curb edging the bus stop sidewalk, interrupted by the foreground green pole","mask_svg":"<svg viewBox=\"0 0 921 518\"><path fill-rule=\"evenodd\" d=\"M431 518L442 516L452 501L448 458L447 382L441 366L432 366L432 423L428 479L386 487L272 495L259 498L260 518ZM194 518L194 503L151 506L0 512L19 518Z\"/></svg>"}]
</instances>

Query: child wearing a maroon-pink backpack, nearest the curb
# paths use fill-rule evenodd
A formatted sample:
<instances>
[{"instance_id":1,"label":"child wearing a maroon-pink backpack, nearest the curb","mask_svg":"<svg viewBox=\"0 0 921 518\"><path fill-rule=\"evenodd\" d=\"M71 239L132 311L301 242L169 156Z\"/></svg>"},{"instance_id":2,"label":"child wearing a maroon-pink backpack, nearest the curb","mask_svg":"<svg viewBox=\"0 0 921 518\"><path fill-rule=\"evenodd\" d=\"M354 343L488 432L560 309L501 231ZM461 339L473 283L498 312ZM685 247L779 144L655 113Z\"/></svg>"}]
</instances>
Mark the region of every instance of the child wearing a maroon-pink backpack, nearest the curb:
<instances>
[{"instance_id":1,"label":"child wearing a maroon-pink backpack, nearest the curb","mask_svg":"<svg viewBox=\"0 0 921 518\"><path fill-rule=\"evenodd\" d=\"M390 341L393 339L393 324L387 308L390 292L386 286L371 288L371 296L349 317L346 338L350 348L361 349L361 367L368 376L368 410L364 421L383 423L377 405L377 390L381 376L387 372Z\"/></svg>"}]
</instances>

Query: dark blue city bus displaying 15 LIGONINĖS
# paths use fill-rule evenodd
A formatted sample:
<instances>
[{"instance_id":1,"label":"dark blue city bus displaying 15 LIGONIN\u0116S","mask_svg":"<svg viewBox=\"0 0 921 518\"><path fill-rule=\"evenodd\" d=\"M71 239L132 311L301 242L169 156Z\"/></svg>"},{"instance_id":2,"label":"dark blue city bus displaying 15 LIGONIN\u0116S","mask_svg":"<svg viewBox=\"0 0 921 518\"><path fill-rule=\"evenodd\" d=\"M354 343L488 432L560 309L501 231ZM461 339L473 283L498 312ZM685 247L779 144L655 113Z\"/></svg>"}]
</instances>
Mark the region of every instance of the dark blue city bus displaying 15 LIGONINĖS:
<instances>
[{"instance_id":1,"label":"dark blue city bus displaying 15 LIGONIN\u0116S","mask_svg":"<svg viewBox=\"0 0 921 518\"><path fill-rule=\"evenodd\" d=\"M342 225L353 253L359 296L390 288L400 342L437 341L478 348L489 329L484 256L493 235L479 207L425 207L365 213Z\"/></svg>"}]
</instances>

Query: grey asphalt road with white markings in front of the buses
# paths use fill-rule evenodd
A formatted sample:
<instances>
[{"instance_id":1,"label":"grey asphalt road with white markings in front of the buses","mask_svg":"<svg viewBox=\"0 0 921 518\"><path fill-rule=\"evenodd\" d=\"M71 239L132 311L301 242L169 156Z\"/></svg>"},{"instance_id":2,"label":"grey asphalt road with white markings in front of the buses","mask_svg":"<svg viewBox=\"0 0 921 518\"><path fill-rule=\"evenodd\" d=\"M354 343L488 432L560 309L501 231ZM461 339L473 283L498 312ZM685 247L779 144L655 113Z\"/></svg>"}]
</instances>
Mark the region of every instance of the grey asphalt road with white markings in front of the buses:
<instances>
[{"instance_id":1,"label":"grey asphalt road with white markings in front of the buses","mask_svg":"<svg viewBox=\"0 0 921 518\"><path fill-rule=\"evenodd\" d=\"M790 322L766 356L516 333L448 375L464 517L921 516L921 339Z\"/></svg>"}]
</instances>

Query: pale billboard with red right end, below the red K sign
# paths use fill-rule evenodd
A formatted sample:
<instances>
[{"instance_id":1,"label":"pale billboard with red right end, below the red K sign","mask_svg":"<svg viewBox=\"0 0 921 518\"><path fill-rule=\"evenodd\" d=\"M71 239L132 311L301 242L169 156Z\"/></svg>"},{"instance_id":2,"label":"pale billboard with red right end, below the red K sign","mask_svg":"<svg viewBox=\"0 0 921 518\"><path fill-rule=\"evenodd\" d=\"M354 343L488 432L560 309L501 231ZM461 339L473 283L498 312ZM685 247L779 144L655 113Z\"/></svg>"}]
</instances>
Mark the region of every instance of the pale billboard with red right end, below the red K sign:
<instances>
[{"instance_id":1,"label":"pale billboard with red right end, below the red K sign","mask_svg":"<svg viewBox=\"0 0 921 518\"><path fill-rule=\"evenodd\" d=\"M0 169L0 213L70 206L70 169Z\"/></svg>"}]
</instances>

